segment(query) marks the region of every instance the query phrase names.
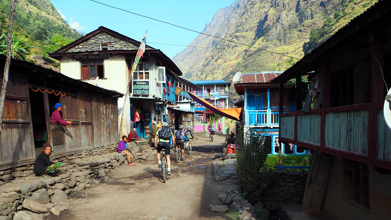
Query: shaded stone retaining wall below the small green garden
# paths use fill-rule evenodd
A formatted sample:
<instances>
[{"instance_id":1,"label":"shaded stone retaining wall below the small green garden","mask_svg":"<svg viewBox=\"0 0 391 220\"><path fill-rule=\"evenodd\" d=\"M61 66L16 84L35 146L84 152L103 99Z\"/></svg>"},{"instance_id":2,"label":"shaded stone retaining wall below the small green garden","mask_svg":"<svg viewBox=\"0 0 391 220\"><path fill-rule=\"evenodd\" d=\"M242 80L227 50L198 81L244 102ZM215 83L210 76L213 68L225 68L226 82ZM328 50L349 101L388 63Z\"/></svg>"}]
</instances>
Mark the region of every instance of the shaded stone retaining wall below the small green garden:
<instances>
[{"instance_id":1,"label":"shaded stone retaining wall below the small green garden","mask_svg":"<svg viewBox=\"0 0 391 220\"><path fill-rule=\"evenodd\" d=\"M279 174L262 193L262 201L269 211L277 210L280 204L301 203L305 192L308 173L287 173L274 171Z\"/></svg>"}]
</instances>

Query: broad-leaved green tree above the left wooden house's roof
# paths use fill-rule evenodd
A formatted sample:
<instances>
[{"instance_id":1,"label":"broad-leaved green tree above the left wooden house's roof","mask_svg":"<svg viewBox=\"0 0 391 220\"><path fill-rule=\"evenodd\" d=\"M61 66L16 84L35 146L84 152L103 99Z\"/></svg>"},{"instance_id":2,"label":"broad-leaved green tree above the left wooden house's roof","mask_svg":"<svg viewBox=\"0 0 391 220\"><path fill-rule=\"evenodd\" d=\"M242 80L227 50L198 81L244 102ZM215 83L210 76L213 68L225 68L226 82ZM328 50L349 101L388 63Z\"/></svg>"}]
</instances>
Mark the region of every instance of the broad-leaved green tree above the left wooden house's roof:
<instances>
[{"instance_id":1,"label":"broad-leaved green tree above the left wooden house's roof","mask_svg":"<svg viewBox=\"0 0 391 220\"><path fill-rule=\"evenodd\" d=\"M12 34L11 39L11 57L18 60L26 60L31 46L27 44L25 36L16 39L14 34ZM7 54L7 35L5 33L0 36L0 54Z\"/></svg>"}]
</instances>

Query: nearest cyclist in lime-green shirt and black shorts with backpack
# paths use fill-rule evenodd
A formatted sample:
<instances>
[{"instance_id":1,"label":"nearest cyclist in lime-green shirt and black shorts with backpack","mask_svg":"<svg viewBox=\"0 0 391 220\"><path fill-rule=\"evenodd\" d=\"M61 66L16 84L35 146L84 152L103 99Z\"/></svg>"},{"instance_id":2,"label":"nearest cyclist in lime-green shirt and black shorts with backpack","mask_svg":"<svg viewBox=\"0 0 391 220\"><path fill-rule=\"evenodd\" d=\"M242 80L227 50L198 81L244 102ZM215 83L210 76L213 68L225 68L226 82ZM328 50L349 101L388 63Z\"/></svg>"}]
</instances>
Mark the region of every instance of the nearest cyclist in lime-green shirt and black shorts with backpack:
<instances>
[{"instance_id":1,"label":"nearest cyclist in lime-green shirt and black shorts with backpack","mask_svg":"<svg viewBox=\"0 0 391 220\"><path fill-rule=\"evenodd\" d=\"M160 151L164 148L166 152L166 159L167 159L167 175L171 175L170 166L171 166L171 160L170 160L170 137L172 138L172 141L175 144L174 134L171 132L167 122L161 123L162 128L160 128L155 135L154 143L156 146L156 157L158 158L159 168L161 168L161 159L160 159ZM159 138L159 144L157 144Z\"/></svg>"}]
</instances>

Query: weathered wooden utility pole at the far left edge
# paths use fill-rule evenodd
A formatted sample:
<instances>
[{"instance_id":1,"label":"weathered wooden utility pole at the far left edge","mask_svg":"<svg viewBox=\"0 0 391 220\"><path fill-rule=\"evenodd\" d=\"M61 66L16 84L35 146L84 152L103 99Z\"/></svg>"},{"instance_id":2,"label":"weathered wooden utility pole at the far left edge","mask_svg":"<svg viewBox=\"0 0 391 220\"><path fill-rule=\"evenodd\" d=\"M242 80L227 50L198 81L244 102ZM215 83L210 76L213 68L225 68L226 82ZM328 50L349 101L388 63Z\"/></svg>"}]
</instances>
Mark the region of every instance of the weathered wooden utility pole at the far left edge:
<instances>
[{"instance_id":1,"label":"weathered wooden utility pole at the far left edge","mask_svg":"<svg viewBox=\"0 0 391 220\"><path fill-rule=\"evenodd\" d=\"M3 85L0 92L0 135L3 126L5 91L7 90L8 72L9 72L9 66L11 65L11 43L12 43L12 27L14 25L14 13L15 13L15 0L11 0L11 14L9 16L8 38L7 38L7 59L5 60Z\"/></svg>"}]
</instances>

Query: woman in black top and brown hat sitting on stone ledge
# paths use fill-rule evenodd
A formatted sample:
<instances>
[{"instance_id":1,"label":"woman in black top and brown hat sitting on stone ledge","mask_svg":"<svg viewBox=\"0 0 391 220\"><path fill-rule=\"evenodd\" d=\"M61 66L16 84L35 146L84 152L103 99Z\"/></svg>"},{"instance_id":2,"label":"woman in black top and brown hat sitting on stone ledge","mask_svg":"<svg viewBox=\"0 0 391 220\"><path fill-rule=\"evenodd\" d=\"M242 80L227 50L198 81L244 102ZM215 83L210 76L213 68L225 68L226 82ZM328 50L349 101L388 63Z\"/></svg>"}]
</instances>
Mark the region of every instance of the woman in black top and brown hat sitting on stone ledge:
<instances>
[{"instance_id":1,"label":"woman in black top and brown hat sitting on stone ledge","mask_svg":"<svg viewBox=\"0 0 391 220\"><path fill-rule=\"evenodd\" d=\"M49 155L52 153L52 146L50 144L43 144L42 153L40 153L34 162L34 173L37 176L49 177L47 173L54 173L54 171L61 166L58 161L50 161Z\"/></svg>"}]
</instances>

